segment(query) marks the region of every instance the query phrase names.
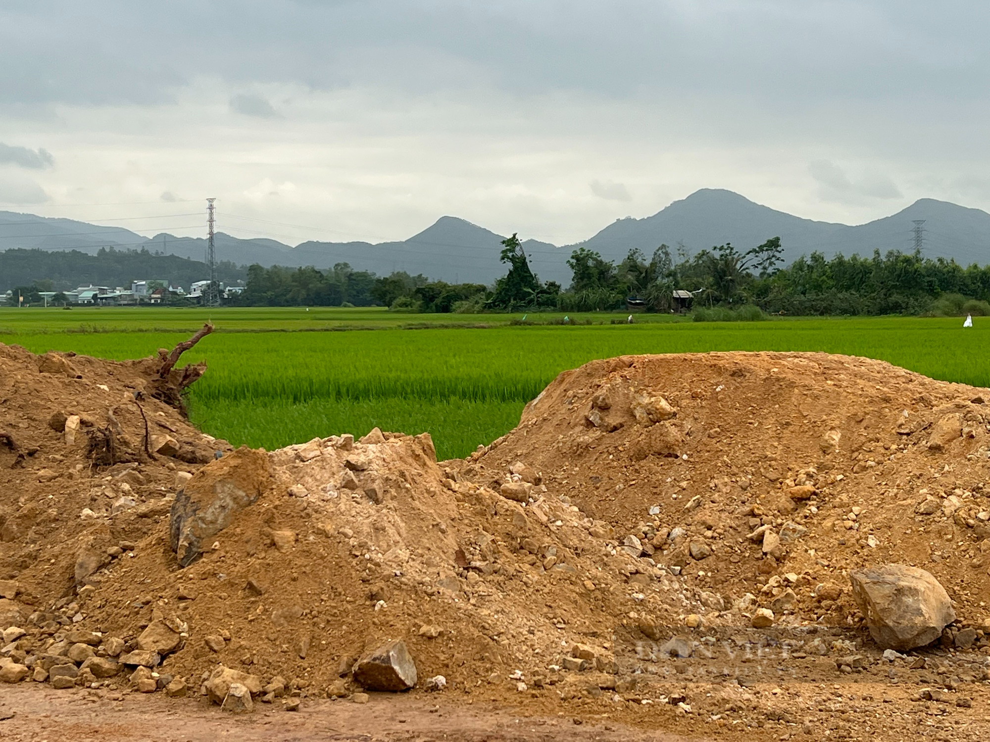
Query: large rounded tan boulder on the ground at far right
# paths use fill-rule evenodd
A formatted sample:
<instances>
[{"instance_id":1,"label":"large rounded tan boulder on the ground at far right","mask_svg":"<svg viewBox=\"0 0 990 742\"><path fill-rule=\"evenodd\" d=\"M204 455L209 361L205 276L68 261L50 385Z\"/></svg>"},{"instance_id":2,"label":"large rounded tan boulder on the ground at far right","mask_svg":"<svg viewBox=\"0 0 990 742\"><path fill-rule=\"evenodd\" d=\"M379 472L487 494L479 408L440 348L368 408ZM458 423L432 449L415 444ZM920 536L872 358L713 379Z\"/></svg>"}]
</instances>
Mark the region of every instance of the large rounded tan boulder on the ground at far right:
<instances>
[{"instance_id":1,"label":"large rounded tan boulder on the ground at far right","mask_svg":"<svg viewBox=\"0 0 990 742\"><path fill-rule=\"evenodd\" d=\"M858 570L849 579L870 635L884 649L906 652L930 644L955 620L945 589L923 569L888 564Z\"/></svg>"}]
</instances>

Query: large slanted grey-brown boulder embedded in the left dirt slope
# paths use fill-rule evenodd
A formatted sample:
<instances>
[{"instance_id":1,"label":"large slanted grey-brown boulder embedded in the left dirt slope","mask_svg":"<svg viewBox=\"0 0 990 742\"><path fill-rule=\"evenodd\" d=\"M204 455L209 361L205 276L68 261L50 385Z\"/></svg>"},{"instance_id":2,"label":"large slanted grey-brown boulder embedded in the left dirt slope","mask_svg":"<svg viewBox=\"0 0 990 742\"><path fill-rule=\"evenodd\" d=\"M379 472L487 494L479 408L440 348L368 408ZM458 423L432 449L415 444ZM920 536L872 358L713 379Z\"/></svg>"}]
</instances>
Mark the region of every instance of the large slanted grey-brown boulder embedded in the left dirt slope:
<instances>
[{"instance_id":1,"label":"large slanted grey-brown boulder embedded in the left dirt slope","mask_svg":"<svg viewBox=\"0 0 990 742\"><path fill-rule=\"evenodd\" d=\"M208 539L230 525L270 485L268 454L247 447L196 472L172 504L171 547L179 566L196 561L204 544L209 548Z\"/></svg>"}]
</instances>

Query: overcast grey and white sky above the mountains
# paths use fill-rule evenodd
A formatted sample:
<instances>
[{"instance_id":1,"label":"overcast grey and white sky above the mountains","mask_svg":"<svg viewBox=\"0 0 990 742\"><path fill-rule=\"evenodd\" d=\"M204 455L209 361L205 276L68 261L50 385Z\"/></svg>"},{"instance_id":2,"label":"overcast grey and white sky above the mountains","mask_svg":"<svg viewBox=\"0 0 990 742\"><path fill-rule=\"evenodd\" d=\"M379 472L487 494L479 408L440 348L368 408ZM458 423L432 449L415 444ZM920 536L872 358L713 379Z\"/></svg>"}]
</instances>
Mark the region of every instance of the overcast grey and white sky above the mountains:
<instances>
[{"instance_id":1,"label":"overcast grey and white sky above the mountains","mask_svg":"<svg viewBox=\"0 0 990 742\"><path fill-rule=\"evenodd\" d=\"M293 244L563 244L698 188L990 210L988 32L975 0L5 0L0 209L200 234L213 196Z\"/></svg>"}]
</instances>

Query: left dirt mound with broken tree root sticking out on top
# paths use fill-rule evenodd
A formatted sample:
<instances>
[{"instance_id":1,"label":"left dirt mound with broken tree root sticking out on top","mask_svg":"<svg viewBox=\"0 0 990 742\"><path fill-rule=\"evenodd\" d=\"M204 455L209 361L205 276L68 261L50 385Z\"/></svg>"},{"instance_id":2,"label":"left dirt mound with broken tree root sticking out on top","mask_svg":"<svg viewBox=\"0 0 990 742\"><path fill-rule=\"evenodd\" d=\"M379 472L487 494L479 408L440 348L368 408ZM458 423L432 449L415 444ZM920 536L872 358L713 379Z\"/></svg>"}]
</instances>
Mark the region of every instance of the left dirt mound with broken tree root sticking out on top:
<instances>
[{"instance_id":1,"label":"left dirt mound with broken tree root sticking out on top","mask_svg":"<svg viewBox=\"0 0 990 742\"><path fill-rule=\"evenodd\" d=\"M158 399L177 398L182 378L160 378L161 362L0 344L0 577L16 579L21 605L74 596L108 546L140 541L168 512L178 473L230 450Z\"/></svg>"}]
</instances>

